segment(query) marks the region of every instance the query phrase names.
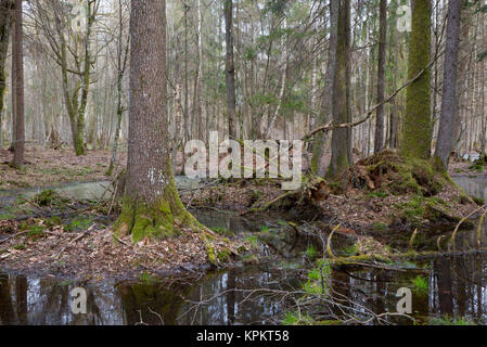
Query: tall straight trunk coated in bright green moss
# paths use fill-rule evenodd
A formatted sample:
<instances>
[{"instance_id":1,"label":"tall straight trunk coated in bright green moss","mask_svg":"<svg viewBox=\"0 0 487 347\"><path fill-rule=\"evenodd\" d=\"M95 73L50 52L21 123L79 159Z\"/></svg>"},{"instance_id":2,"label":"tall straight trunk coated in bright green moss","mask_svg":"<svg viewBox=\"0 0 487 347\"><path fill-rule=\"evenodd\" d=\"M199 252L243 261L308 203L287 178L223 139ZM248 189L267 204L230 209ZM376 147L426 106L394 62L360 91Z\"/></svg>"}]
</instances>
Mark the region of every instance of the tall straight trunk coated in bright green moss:
<instances>
[{"instance_id":1,"label":"tall straight trunk coated in bright green moss","mask_svg":"<svg viewBox=\"0 0 487 347\"><path fill-rule=\"evenodd\" d=\"M413 79L430 64L431 0L412 0L408 79ZM410 83L406 95L405 132L401 153L413 158L431 156L430 68Z\"/></svg>"}]
</instances>

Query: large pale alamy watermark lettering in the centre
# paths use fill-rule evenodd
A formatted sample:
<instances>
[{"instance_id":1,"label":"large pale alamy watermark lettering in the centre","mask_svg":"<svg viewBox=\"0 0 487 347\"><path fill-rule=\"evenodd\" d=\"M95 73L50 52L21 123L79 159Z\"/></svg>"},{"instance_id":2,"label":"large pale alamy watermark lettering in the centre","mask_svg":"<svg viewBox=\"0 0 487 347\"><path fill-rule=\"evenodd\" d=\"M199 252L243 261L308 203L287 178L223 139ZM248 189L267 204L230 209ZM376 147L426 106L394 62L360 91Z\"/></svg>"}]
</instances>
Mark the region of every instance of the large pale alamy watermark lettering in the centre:
<instances>
[{"instance_id":1,"label":"large pale alamy watermark lettering in the centre","mask_svg":"<svg viewBox=\"0 0 487 347\"><path fill-rule=\"evenodd\" d=\"M208 142L208 150L202 140L187 142L184 153L190 157L184 163L184 172L189 178L265 178L267 174L269 178L289 180L281 185L286 191L297 190L302 184L302 140L225 139L219 143L218 131L210 131Z\"/></svg>"}]
</instances>

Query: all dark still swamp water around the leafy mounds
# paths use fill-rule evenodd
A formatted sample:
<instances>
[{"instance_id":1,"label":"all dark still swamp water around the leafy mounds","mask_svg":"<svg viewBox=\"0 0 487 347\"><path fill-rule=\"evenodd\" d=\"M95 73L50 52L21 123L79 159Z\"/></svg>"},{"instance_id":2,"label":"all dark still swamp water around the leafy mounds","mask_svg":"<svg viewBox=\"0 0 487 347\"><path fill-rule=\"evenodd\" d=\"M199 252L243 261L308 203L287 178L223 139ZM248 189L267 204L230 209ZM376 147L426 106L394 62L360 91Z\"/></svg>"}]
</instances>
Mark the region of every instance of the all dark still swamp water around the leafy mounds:
<instances>
[{"instance_id":1,"label":"all dark still swamp water around the leafy mounds","mask_svg":"<svg viewBox=\"0 0 487 347\"><path fill-rule=\"evenodd\" d=\"M453 179L470 194L486 198L487 177ZM65 192L77 194L77 189L80 188L69 188ZM266 228L279 226L278 217L274 222L266 223L268 216L247 220L234 214L207 211L197 213L196 217L208 227L235 233L261 231L264 224ZM487 244L485 227L483 232L483 243ZM279 324L286 312L296 311L295 299L309 279L308 271L299 270L303 265L293 262L296 261L293 256L303 259L306 245L295 247L293 243L293 240L284 242L285 252L258 267L157 282L143 278L131 283L87 285L50 277L1 273L0 270L0 324ZM474 247L476 232L460 233L457 244L463 249ZM437 257L402 266L411 269L330 270L325 280L330 299L342 301L339 307L317 304L315 309L321 314L320 320L343 319L343 312L354 313L361 320L371 318L369 310L396 312L398 288L409 287L412 290L412 316L420 322L449 316L487 324L485 254ZM69 293L75 287L86 290L87 314L72 311ZM289 292L296 293L284 294ZM409 323L397 318L388 322Z\"/></svg>"}]
</instances>

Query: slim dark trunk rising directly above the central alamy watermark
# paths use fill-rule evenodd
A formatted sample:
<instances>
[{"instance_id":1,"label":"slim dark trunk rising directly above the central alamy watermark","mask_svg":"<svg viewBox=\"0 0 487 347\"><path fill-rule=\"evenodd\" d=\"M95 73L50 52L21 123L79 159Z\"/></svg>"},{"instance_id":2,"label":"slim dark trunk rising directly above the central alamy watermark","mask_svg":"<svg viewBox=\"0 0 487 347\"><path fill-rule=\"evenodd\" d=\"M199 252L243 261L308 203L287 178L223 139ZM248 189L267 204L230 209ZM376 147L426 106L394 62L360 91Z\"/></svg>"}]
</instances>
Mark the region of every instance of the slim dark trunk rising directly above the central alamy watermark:
<instances>
[{"instance_id":1,"label":"slim dark trunk rising directly above the central alamy watermark","mask_svg":"<svg viewBox=\"0 0 487 347\"><path fill-rule=\"evenodd\" d=\"M233 64L233 2L225 0L225 40L227 42L226 78L229 136L236 139L235 66Z\"/></svg>"}]
</instances>

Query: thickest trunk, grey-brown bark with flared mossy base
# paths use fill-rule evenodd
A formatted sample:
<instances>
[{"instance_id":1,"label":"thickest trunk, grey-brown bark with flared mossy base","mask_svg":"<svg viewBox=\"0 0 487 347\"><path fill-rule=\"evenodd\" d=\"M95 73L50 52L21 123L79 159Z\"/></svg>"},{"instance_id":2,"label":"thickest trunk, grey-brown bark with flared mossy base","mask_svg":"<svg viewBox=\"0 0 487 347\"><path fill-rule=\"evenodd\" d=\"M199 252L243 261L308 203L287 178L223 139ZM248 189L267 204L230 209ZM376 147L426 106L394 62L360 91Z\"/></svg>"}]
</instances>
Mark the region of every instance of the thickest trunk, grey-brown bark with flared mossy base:
<instances>
[{"instance_id":1,"label":"thickest trunk, grey-brown bark with flared mossy base","mask_svg":"<svg viewBox=\"0 0 487 347\"><path fill-rule=\"evenodd\" d=\"M127 182L116 235L133 242L196 226L176 191L166 111L166 2L132 0Z\"/></svg>"}]
</instances>

